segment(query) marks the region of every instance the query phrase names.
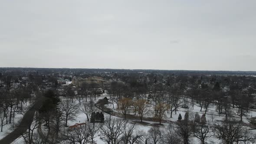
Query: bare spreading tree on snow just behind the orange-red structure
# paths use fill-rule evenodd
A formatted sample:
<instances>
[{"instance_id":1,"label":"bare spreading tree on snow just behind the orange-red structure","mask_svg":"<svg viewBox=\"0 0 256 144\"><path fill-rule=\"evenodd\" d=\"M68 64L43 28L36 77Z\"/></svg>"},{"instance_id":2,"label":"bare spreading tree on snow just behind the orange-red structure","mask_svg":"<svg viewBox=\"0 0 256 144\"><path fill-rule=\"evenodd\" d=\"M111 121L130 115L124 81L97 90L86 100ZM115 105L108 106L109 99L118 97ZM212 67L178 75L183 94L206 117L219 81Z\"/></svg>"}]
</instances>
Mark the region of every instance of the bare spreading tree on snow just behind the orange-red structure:
<instances>
[{"instance_id":1,"label":"bare spreading tree on snow just behind the orange-red structure","mask_svg":"<svg viewBox=\"0 0 256 144\"><path fill-rule=\"evenodd\" d=\"M78 113L77 105L72 103L70 99L66 99L61 101L60 109L63 111L63 118L65 119L65 126L67 127L68 120L74 120L75 115Z\"/></svg>"}]
</instances>

